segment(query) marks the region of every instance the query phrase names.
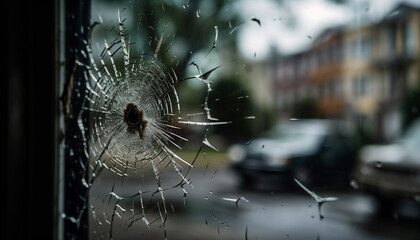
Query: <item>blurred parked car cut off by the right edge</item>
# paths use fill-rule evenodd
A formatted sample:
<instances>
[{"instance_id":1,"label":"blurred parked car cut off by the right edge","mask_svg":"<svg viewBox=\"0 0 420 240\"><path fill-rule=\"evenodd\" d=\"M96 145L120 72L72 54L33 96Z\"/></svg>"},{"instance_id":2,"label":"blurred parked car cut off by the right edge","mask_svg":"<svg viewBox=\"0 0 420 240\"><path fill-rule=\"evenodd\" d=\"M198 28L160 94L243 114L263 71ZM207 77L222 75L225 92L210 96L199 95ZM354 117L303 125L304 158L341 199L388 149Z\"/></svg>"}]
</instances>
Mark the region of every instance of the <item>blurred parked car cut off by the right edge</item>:
<instances>
[{"instance_id":1,"label":"blurred parked car cut off by the right edge","mask_svg":"<svg viewBox=\"0 0 420 240\"><path fill-rule=\"evenodd\" d=\"M362 148L355 178L383 210L402 199L420 202L420 119L391 144Z\"/></svg>"}]
</instances>

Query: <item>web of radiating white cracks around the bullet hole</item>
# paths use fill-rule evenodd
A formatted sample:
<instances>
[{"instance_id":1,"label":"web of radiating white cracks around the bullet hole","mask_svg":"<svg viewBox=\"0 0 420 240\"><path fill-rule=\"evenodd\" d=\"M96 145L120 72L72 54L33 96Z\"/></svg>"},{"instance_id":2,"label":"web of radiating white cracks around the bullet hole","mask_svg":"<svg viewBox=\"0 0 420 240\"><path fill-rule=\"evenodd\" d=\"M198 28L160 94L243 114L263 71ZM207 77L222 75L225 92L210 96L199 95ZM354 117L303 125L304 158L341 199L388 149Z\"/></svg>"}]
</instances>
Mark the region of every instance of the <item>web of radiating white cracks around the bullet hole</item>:
<instances>
[{"instance_id":1,"label":"web of radiating white cracks around the bullet hole","mask_svg":"<svg viewBox=\"0 0 420 240\"><path fill-rule=\"evenodd\" d=\"M89 166L84 166L85 178L82 181L90 190L104 169L119 177L121 185L124 184L126 177L133 175L143 177L146 168L152 171L156 182L152 191L140 188L137 194L123 197L114 184L109 191L107 203L112 206L112 213L107 217L104 212L103 218L104 222L109 223L110 239L113 238L115 222L119 218L127 218L128 215L130 216L127 228L133 227L136 222L142 222L148 228L151 224L160 222L166 239L169 205L165 192L172 188L181 189L186 207L189 191L186 186L194 189L187 176L188 173L194 167L198 156L205 153L206 146L217 151L205 134L194 159L181 157L177 151L181 150L183 143L188 141L188 138L182 135L183 128L201 126L207 132L211 126L231 123L212 117L208 106L212 91L211 75L220 66L202 73L200 66L192 63L197 68L198 74L179 78L179 73L160 61L160 55L169 52L175 38L175 35L170 37L166 33L170 22L162 25L163 30L158 38L150 38L149 47L156 43L155 48L150 51L133 47L136 45L132 42L125 26L123 11L116 11L116 19L118 23L114 29L117 29L118 34L115 39L112 41L103 39L95 43L92 39L82 40L85 49L80 51L87 61L76 61L77 66L83 69L86 81L83 111L90 116L89 125L82 126L83 131L85 128L89 130L87 134L89 137L84 141L86 154L91 160ZM100 21L92 24L89 29L89 37L92 36L94 28L101 24L103 20L100 17ZM208 54L217 45L217 26L214 26L214 31L213 45ZM166 41L168 39L169 43ZM92 44L99 46L97 51L91 47ZM164 45L167 48L162 52ZM207 88L202 112L187 113L188 119L182 118L183 112L177 93L178 85L184 81L199 81ZM196 121L195 116L204 116L204 120L200 118ZM169 166L177 173L180 181L170 187L164 184L161 178L162 171L169 170ZM148 200L145 199L145 194L150 197ZM135 208L135 201L140 202L139 208ZM173 210L173 205L170 206ZM93 205L90 209L96 223L102 225L97 214L98 209ZM125 214L126 212L130 214ZM66 218L77 221L76 218Z\"/></svg>"}]
</instances>

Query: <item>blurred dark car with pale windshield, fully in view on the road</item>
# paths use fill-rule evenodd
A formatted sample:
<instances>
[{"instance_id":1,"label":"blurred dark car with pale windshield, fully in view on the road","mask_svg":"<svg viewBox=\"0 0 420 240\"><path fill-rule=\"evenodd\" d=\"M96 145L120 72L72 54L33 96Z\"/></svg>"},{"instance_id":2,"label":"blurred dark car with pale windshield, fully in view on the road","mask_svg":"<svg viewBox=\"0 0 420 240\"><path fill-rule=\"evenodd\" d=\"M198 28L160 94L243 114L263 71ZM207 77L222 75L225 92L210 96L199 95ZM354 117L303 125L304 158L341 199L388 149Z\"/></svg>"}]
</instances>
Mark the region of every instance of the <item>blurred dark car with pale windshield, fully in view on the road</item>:
<instances>
[{"instance_id":1,"label":"blurred dark car with pale windshield, fully in view on the road","mask_svg":"<svg viewBox=\"0 0 420 240\"><path fill-rule=\"evenodd\" d=\"M277 184L293 178L306 186L348 185L357 149L345 129L331 120L291 120L233 145L229 158L244 187L260 179Z\"/></svg>"}]
</instances>

